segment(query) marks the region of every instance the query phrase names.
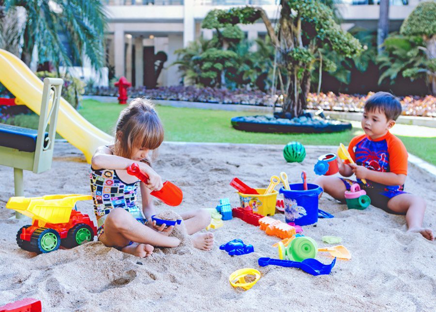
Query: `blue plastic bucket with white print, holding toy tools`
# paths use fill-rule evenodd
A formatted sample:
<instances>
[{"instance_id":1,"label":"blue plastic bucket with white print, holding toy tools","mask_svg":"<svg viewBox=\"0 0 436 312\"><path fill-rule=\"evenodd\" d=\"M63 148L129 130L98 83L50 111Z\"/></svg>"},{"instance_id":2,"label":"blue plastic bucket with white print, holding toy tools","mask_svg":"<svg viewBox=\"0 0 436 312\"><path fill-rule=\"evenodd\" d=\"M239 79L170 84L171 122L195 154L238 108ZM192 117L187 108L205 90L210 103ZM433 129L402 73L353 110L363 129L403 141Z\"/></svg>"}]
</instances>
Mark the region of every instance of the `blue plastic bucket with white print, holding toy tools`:
<instances>
[{"instance_id":1,"label":"blue plastic bucket with white print, holding toy tools","mask_svg":"<svg viewBox=\"0 0 436 312\"><path fill-rule=\"evenodd\" d=\"M296 225L310 225L318 222L318 196L323 189L316 184L307 183L307 191L303 183L290 184L291 190L280 188L283 194L286 223Z\"/></svg>"}]
</instances>

